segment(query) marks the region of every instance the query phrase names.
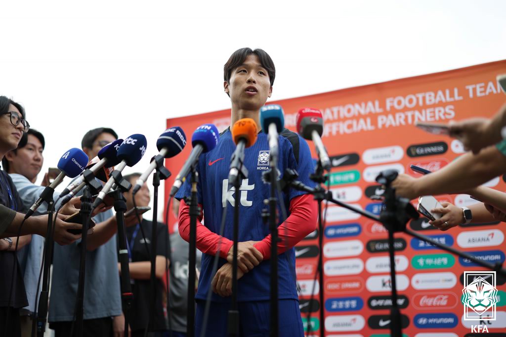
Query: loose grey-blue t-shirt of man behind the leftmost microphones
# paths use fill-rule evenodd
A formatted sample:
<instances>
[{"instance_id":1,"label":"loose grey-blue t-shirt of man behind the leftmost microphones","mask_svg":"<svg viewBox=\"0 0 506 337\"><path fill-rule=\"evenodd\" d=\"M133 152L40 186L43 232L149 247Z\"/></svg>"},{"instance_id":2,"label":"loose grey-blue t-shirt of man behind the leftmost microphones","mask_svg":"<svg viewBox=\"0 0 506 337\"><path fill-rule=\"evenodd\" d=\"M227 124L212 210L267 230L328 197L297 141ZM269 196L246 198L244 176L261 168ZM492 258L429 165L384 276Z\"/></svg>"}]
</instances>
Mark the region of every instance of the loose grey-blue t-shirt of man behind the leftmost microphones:
<instances>
[{"instance_id":1,"label":"loose grey-blue t-shirt of man behind the leftmost microphones","mask_svg":"<svg viewBox=\"0 0 506 337\"><path fill-rule=\"evenodd\" d=\"M112 210L95 218L98 224L112 217ZM92 234L93 235L93 234ZM79 276L80 242L55 244L49 322L74 319ZM84 319L121 315L121 295L116 251L116 234L93 251L86 251Z\"/></svg>"}]
</instances>

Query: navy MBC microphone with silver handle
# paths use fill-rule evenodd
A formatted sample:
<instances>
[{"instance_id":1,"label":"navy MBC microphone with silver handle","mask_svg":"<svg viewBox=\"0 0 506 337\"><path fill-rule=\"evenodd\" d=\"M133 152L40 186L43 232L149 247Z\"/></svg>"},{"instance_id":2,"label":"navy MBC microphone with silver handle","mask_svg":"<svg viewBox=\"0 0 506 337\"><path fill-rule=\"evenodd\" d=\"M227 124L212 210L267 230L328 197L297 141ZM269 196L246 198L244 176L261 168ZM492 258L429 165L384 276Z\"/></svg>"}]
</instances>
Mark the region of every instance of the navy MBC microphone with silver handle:
<instances>
[{"instance_id":1,"label":"navy MBC microphone with silver handle","mask_svg":"<svg viewBox=\"0 0 506 337\"><path fill-rule=\"evenodd\" d=\"M183 151L185 145L186 136L183 129L180 127L174 127L165 130L156 141L156 148L159 151L158 154L164 158L174 157L176 154ZM153 158L148 166L148 169L135 182L133 194L136 194L137 191L141 189L142 185L144 185L149 175L155 170L155 168L156 161Z\"/></svg>"}]
</instances>

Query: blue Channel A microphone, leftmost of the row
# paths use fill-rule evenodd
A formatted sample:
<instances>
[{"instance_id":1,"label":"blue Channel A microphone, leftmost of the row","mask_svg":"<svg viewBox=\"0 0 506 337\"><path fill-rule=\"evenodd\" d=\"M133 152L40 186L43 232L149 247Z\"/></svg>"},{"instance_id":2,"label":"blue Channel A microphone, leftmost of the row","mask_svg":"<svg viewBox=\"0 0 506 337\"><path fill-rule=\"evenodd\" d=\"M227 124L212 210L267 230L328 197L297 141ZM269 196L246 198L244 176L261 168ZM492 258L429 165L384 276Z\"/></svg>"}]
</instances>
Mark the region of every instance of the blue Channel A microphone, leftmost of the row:
<instances>
[{"instance_id":1,"label":"blue Channel A microphone, leftmost of the row","mask_svg":"<svg viewBox=\"0 0 506 337\"><path fill-rule=\"evenodd\" d=\"M26 212L25 219L28 219L33 215L35 210L45 201L49 200L49 197L53 198L53 193L55 192L55 187L60 185L63 181L63 178L77 177L83 170L85 170L86 163L88 162L88 156L81 149L72 148L65 152L65 154L58 161L58 169L61 173L56 177L56 179L51 183L51 185L47 186L42 193L40 193L40 197L35 201L35 203L30 207L28 212Z\"/></svg>"}]
</instances>

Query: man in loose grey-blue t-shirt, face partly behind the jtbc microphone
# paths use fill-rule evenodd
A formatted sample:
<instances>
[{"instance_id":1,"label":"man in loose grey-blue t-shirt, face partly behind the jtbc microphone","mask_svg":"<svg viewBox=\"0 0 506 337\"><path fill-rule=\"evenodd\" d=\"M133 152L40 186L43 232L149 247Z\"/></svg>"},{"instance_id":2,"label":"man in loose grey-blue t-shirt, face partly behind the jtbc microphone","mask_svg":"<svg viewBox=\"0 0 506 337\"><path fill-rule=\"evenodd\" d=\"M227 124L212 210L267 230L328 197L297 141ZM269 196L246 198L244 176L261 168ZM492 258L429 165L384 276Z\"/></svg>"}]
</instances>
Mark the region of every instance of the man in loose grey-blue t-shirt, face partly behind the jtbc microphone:
<instances>
[{"instance_id":1,"label":"man in loose grey-blue t-shirt, face partly behind the jtbc microphone","mask_svg":"<svg viewBox=\"0 0 506 337\"><path fill-rule=\"evenodd\" d=\"M97 156L105 145L118 138L114 130L90 130L82 138L82 150L90 159ZM116 217L106 210L93 218L97 225L87 238L83 337L109 337L123 335L124 317L116 251ZM125 226L137 224L135 214L125 217ZM80 241L61 247L55 246L53 283L49 305L50 328L55 337L71 335L74 321L75 299L79 274ZM55 291L54 289L58 289ZM74 335L76 334L74 328Z\"/></svg>"}]
</instances>

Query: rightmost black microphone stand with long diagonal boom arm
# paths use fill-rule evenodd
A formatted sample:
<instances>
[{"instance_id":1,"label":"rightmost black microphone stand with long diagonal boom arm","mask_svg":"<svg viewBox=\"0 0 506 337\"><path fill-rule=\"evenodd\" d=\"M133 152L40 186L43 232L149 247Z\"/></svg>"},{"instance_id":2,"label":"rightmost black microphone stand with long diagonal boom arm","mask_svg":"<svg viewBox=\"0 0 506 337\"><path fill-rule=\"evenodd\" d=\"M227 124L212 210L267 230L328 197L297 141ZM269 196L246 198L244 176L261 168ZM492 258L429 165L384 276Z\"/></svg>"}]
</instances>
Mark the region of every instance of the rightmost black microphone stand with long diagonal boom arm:
<instances>
[{"instance_id":1,"label":"rightmost black microphone stand with long diagonal boom arm","mask_svg":"<svg viewBox=\"0 0 506 337\"><path fill-rule=\"evenodd\" d=\"M477 259L476 257L466 254L465 252L459 251L453 247L446 246L438 241L433 240L430 237L425 235L418 234L409 229L406 229L406 224L410 219L419 218L418 213L416 212L413 205L406 198L397 197L395 195L395 189L391 187L391 183L397 178L398 173L394 170L387 170L382 172L376 177L376 181L382 185L385 185L385 206L382 209L380 216L376 216L372 213L367 212L366 210L355 208L351 205L348 205L342 201L335 200L332 196L331 192L325 192L325 199L329 202L332 202L336 205L342 206L344 208L350 209L355 213L360 214L366 218L374 220L376 222L381 222L383 226L388 230L389 233L389 255L390 255L390 277L391 277L391 287L392 287L392 307L390 310L390 335L392 337L402 337L402 316L399 310L399 306L397 304L397 284L395 280L395 247L394 247L394 233L406 233L412 237L415 237L419 240L423 240L427 243L430 243L438 248L451 252L454 255L459 257L469 259L470 261L478 264L481 267L490 269L492 271L496 271L497 273L506 276L506 270L502 268L502 263L497 262L495 264L491 264L482 260ZM297 171L286 169L285 175L283 176L285 186L290 186L299 191L305 191L311 194L318 193L316 189L308 187L301 183L300 181L295 181L299 177ZM309 322L308 322L309 324ZM320 322L321 324L321 322Z\"/></svg>"}]
</instances>

